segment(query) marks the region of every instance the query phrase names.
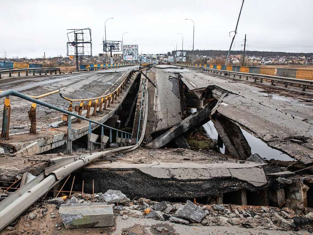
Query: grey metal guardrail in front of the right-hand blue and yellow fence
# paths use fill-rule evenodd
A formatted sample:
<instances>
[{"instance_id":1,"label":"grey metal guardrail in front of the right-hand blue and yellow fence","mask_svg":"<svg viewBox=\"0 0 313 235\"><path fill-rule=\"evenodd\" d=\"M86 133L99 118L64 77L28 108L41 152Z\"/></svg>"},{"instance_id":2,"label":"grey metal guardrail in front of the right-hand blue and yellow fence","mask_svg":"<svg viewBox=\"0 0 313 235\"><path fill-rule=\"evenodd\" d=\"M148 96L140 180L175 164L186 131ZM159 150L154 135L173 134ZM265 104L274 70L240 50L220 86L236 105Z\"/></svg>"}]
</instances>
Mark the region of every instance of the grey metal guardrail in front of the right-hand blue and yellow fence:
<instances>
[{"instance_id":1,"label":"grey metal guardrail in front of the right-hand blue and yellow fence","mask_svg":"<svg viewBox=\"0 0 313 235\"><path fill-rule=\"evenodd\" d=\"M224 73L225 75L230 76L230 74L238 75L239 78L241 76L246 76L246 80L248 80L249 77L254 78L254 82L256 82L258 79L260 82L263 82L263 79L270 80L272 84L274 84L274 81L279 81L285 83L285 87L289 84L297 84L302 85L302 90L305 91L306 86L313 86L313 80L306 80L306 79L298 79L298 78L290 78L290 77L279 77L279 76L271 76L271 75L264 75L264 74L255 74L255 73L244 73L244 72L235 72L235 71L229 71L229 70L218 70L218 69L212 69L207 67L198 67L198 66L190 66L190 65L178 65L186 67L189 69L195 69L195 70L201 70L201 71L209 71L213 73Z\"/></svg>"}]
</instances>

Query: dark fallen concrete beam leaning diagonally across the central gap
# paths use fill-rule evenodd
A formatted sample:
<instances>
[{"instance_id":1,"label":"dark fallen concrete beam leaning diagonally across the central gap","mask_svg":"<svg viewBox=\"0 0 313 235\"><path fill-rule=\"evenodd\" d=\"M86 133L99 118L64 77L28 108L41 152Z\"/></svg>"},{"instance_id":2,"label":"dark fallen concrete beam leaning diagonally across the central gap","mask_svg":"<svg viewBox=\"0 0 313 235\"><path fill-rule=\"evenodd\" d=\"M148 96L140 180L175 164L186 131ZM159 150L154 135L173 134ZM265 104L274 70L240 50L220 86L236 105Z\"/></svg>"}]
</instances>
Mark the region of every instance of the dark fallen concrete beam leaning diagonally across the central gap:
<instances>
[{"instance_id":1,"label":"dark fallen concrete beam leaning diagonally across the central gap","mask_svg":"<svg viewBox=\"0 0 313 235\"><path fill-rule=\"evenodd\" d=\"M165 144L169 143L172 139L179 137L183 133L188 133L188 131L193 130L207 123L209 119L210 105L207 104L203 109L192 113L190 116L177 123L175 126L170 128L168 131L155 138L147 147L151 148L161 148Z\"/></svg>"}]
</instances>

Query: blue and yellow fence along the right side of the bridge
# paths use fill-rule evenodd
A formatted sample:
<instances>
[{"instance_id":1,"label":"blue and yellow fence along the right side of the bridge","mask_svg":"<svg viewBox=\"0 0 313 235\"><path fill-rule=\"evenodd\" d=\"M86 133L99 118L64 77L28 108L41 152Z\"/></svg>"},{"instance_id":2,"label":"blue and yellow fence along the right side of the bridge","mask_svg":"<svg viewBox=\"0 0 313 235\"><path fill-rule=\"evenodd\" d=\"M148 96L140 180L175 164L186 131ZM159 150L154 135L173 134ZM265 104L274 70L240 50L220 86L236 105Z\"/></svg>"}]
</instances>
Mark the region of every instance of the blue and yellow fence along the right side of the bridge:
<instances>
[{"instance_id":1,"label":"blue and yellow fence along the right side of the bridge","mask_svg":"<svg viewBox=\"0 0 313 235\"><path fill-rule=\"evenodd\" d=\"M206 67L218 70L228 70L233 72L254 73L270 76L313 80L312 69L292 69L292 68L252 67L252 66L250 67L236 65L208 65L208 64L183 64L183 65Z\"/></svg>"}]
</instances>

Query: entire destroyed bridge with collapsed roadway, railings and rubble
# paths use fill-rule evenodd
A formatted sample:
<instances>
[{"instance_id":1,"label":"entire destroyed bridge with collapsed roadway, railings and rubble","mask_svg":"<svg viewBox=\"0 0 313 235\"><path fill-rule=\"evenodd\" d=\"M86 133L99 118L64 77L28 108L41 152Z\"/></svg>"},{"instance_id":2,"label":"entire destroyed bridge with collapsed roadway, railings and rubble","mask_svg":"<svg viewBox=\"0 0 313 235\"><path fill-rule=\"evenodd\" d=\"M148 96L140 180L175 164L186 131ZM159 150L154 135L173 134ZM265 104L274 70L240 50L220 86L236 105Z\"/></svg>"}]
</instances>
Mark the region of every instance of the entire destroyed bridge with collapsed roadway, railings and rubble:
<instances>
[{"instance_id":1,"label":"entire destroyed bridge with collapsed roadway, railings and rubble","mask_svg":"<svg viewBox=\"0 0 313 235\"><path fill-rule=\"evenodd\" d=\"M162 234L312 229L311 77L184 64L36 68L3 72L0 90L0 230L47 213L64 234L158 221L153 229L177 232Z\"/></svg>"}]
</instances>

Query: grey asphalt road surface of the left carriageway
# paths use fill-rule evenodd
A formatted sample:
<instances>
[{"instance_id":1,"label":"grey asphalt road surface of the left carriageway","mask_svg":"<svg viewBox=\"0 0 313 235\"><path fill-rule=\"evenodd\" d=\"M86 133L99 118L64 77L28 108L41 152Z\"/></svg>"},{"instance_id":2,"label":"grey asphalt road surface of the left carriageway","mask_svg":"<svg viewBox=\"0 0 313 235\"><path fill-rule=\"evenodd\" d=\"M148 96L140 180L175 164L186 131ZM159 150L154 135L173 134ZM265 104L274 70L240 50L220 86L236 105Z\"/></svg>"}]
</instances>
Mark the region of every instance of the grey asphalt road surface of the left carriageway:
<instances>
[{"instance_id":1,"label":"grey asphalt road surface of the left carriageway","mask_svg":"<svg viewBox=\"0 0 313 235\"><path fill-rule=\"evenodd\" d=\"M48 75L41 77L14 77L0 81L0 90L13 89L27 95L37 96L61 89L64 96L69 98L98 97L113 91L120 84L120 77L138 66L129 66L117 69L98 70L94 72L80 72L69 75ZM68 109L69 102L59 96L59 93L41 98L44 102L57 107ZM4 102L4 99L3 99ZM10 133L25 132L29 129L28 111L31 103L18 97L10 97L11 118ZM73 104L78 105L79 102ZM37 128L46 128L48 123L59 121L62 114L46 107L37 106ZM3 109L0 115L2 118Z\"/></svg>"}]
</instances>

